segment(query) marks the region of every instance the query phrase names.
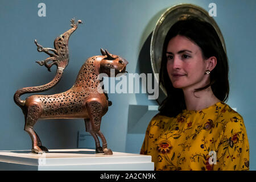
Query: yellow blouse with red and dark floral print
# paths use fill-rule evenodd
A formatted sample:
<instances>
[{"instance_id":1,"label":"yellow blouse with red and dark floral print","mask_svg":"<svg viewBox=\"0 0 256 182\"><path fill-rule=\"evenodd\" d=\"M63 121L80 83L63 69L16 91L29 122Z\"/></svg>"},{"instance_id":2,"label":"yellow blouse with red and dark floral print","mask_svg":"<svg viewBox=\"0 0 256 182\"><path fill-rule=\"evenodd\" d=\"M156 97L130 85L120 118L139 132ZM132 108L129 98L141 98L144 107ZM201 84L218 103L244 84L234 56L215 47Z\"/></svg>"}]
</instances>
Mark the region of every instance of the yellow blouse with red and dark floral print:
<instances>
[{"instance_id":1,"label":"yellow blouse with red and dark floral print","mask_svg":"<svg viewBox=\"0 0 256 182\"><path fill-rule=\"evenodd\" d=\"M156 114L141 154L155 170L249 170L249 142L240 114L224 102L176 117Z\"/></svg>"}]
</instances>

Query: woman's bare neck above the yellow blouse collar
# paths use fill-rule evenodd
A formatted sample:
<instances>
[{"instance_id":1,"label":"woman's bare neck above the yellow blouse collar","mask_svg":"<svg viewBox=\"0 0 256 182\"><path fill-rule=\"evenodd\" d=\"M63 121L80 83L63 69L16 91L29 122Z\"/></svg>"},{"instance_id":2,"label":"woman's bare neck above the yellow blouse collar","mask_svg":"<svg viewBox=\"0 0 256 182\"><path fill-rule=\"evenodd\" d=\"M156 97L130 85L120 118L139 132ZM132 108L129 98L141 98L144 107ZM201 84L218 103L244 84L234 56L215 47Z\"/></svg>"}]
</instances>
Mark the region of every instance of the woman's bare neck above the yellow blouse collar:
<instances>
[{"instance_id":1,"label":"woman's bare neck above the yellow blouse collar","mask_svg":"<svg viewBox=\"0 0 256 182\"><path fill-rule=\"evenodd\" d=\"M183 93L187 110L201 110L220 102L210 86L197 92L194 89L183 89Z\"/></svg>"}]
</instances>

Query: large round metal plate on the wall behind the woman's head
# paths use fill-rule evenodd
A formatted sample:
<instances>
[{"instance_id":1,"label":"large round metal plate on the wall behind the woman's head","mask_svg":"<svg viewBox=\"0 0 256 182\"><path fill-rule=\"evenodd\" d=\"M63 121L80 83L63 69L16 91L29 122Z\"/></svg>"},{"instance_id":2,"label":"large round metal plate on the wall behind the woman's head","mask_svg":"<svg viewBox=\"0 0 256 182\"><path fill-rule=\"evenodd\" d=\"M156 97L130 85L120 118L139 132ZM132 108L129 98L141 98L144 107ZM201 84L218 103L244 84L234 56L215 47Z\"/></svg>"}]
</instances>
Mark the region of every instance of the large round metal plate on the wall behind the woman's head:
<instances>
[{"instance_id":1,"label":"large round metal plate on the wall behind the woman's head","mask_svg":"<svg viewBox=\"0 0 256 182\"><path fill-rule=\"evenodd\" d=\"M160 71L163 43L167 35L167 32L170 30L171 26L174 23L176 23L181 19L186 19L189 16L196 16L197 18L201 20L205 20L206 22L209 22L210 24L212 24L212 26L215 28L221 40L222 46L224 47L224 51L226 52L225 42L222 37L220 28L218 28L217 23L212 17L209 16L207 11L205 11L203 8L199 6L191 5L191 4L181 3L179 5L172 6L169 9L167 9L158 19L158 22L156 23L156 26L154 28L152 38L151 38L151 44L150 44L151 66L157 81L159 80L156 74L159 74L159 71ZM166 90L163 88L163 86L162 85L159 85L159 86L163 90L164 94L166 94L167 96Z\"/></svg>"}]
</instances>

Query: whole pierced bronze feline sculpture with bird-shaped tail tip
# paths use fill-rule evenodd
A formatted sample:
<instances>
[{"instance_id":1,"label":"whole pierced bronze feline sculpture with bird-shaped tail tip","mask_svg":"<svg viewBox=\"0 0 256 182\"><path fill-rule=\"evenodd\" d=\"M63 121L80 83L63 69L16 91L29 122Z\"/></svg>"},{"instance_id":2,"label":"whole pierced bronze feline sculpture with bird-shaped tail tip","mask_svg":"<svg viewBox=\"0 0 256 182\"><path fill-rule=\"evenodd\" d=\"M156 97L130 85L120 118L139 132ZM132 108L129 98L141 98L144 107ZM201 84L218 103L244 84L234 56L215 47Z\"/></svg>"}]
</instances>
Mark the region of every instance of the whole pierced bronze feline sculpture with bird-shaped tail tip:
<instances>
[{"instance_id":1,"label":"whole pierced bronze feline sculpture with bird-shaped tail tip","mask_svg":"<svg viewBox=\"0 0 256 182\"><path fill-rule=\"evenodd\" d=\"M32 95L26 100L20 100L20 96L25 93L42 92L55 86L63 75L63 70L68 64L68 39L73 31L76 30L78 23L71 20L72 28L61 34L55 39L55 49L43 48L36 40L39 52L46 52L49 56L44 61L36 61L40 65L45 65L48 71L53 64L57 65L56 76L51 82L42 86L27 87L16 91L14 94L15 103L22 109L25 116L24 130L30 135L32 140L32 152L47 152L47 148L42 146L38 135L33 127L38 119L57 119L57 118L84 118L86 131L89 132L96 142L96 152L112 155L113 152L107 148L104 135L100 131L101 118L108 111L109 101L104 90L102 90L98 75L106 73L110 75L110 69L118 73L125 73L128 62L120 56L112 55L108 51L101 49L101 56L93 56L82 65L75 84L71 89L63 93L52 95ZM53 53L50 53L52 51ZM49 63L52 61L52 63ZM102 147L98 137L102 140Z\"/></svg>"}]
</instances>

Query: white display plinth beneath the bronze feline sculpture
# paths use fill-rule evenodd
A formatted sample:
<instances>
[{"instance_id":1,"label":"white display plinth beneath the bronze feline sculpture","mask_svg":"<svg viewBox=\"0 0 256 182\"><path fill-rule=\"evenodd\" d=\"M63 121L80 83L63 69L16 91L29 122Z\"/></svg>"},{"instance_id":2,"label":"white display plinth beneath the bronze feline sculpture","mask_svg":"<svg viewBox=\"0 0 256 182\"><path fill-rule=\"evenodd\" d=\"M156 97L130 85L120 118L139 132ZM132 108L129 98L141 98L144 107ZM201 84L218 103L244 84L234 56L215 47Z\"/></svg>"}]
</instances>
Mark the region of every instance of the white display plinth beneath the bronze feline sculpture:
<instances>
[{"instance_id":1,"label":"white display plinth beneath the bronze feline sculpture","mask_svg":"<svg viewBox=\"0 0 256 182\"><path fill-rule=\"evenodd\" d=\"M44 154L31 151L0 151L0 170L88 170L151 171L151 156L113 152L96 154L92 149L49 150Z\"/></svg>"}]
</instances>

